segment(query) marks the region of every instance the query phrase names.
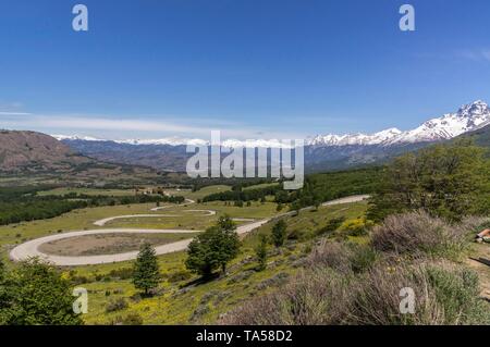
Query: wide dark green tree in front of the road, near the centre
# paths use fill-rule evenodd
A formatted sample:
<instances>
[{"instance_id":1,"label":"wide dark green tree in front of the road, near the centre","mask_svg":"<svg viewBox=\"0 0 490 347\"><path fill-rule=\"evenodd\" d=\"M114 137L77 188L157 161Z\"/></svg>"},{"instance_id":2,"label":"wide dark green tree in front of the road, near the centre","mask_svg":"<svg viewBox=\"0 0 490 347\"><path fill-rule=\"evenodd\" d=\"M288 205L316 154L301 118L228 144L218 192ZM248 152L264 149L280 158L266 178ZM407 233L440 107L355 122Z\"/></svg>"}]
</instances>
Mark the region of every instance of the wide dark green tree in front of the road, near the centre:
<instances>
[{"instance_id":1,"label":"wide dark green tree in front of the road, near the centre","mask_svg":"<svg viewBox=\"0 0 490 347\"><path fill-rule=\"evenodd\" d=\"M236 225L229 216L222 216L216 226L207 228L189 244L185 265L204 277L219 268L224 273L226 263L238 255L238 250Z\"/></svg>"}]
</instances>

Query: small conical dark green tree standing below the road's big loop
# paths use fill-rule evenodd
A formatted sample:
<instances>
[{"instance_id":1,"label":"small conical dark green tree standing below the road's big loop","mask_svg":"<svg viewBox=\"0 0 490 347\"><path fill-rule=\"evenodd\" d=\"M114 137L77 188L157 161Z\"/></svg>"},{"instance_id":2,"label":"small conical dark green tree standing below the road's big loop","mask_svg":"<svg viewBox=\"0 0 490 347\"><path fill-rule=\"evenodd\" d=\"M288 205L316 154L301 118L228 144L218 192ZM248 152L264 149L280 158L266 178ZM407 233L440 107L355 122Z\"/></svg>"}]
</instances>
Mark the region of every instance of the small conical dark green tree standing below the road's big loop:
<instances>
[{"instance_id":1,"label":"small conical dark green tree standing below the road's big loop","mask_svg":"<svg viewBox=\"0 0 490 347\"><path fill-rule=\"evenodd\" d=\"M133 284L137 289L145 290L148 295L150 289L157 288L160 283L160 269L158 267L155 248L145 243L139 249L133 268Z\"/></svg>"}]
</instances>

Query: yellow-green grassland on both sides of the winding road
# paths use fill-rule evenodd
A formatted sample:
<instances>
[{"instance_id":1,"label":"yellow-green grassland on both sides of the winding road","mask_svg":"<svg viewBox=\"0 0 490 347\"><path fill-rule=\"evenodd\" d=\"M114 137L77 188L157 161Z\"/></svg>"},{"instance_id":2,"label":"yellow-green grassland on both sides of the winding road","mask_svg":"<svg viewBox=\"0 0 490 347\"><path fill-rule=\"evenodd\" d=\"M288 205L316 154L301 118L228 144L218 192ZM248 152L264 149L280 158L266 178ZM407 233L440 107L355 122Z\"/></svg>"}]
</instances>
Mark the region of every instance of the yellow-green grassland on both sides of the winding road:
<instances>
[{"instance_id":1,"label":"yellow-green grassland on both sides of the winding road","mask_svg":"<svg viewBox=\"0 0 490 347\"><path fill-rule=\"evenodd\" d=\"M191 199L198 199L205 195L230 189L228 186L210 186L199 191L192 193L180 190L175 191ZM64 194L68 191L58 191ZM96 194L96 191L91 191ZM171 191L172 193L172 191ZM124 191L118 191L124 194ZM102 218L119 214L148 213L152 208L152 203L100 207L72 211L58 218L42 221L33 221L19 223L16 225L8 225L0 227L0 246L3 248L2 258L7 258L8 249L13 245L25 239L40 237L57 233L58 231L66 232L83 228L96 228L93 222ZM347 206L335 206L320 208L316 212L302 212L298 216L289 218L289 232L293 228L301 228L307 233L313 233L316 228L323 226L327 221L340 214L348 218L357 218L364 213L365 203L356 203ZM191 214L188 218L162 218L162 219L142 219L119 220L109 223L105 227L114 226L137 226L137 227L161 227L161 228L196 228L204 230L206 226L212 225L219 215L224 213L231 216L261 219L274 215L275 203L253 202L250 207L232 207L225 206L224 202L195 203L187 207L172 207L160 213L182 213L186 209L209 209L216 210L218 213L213 216L195 216ZM277 252L269 259L269 267L262 272L255 272L256 267L252 257L254 256L254 247L257 243L259 233L269 233L271 225L265 225L259 231L248 235L244 239L244 247L240 257L233 261L230 267L230 273L226 277L212 281L201 285L186 284L197 278L195 275L176 282L162 281L161 294L149 299L140 301L132 300L131 297L136 294L130 280L115 280L108 277L112 270L121 270L131 267L131 262L122 262L105 265L89 265L76 268L75 273L78 276L87 277L88 283L82 284L86 287L89 295L89 313L85 317L87 323L108 323L118 315L125 315L130 312L140 314L145 323L155 324L172 324L172 323L189 323L193 312L199 308L204 313L199 315L198 321L210 323L216 321L220 313L229 311L238 302L247 299L257 293L269 290L264 281L273 278L279 273L293 274L296 272L293 263L301 258L305 251L309 250L310 241L290 241L283 252ZM175 273L184 272L185 252L175 252L159 257L162 274L166 277L175 275ZM71 269L63 269L66 273ZM245 274L245 275L244 275ZM189 275L189 274L187 274ZM234 277L245 276L242 280L233 280ZM99 280L99 281L96 281ZM280 284L281 280L269 280L272 284ZM266 282L267 283L267 282ZM258 286L258 287L257 287ZM182 289L181 287L184 287ZM262 288L265 287L265 288ZM273 285L272 285L273 287ZM187 288L187 289L185 289ZM114 294L115 292L115 294ZM110 295L107 296L106 293ZM106 313L107 303L118 297L124 297L130 307L122 312ZM204 302L206 301L206 302Z\"/></svg>"}]
</instances>

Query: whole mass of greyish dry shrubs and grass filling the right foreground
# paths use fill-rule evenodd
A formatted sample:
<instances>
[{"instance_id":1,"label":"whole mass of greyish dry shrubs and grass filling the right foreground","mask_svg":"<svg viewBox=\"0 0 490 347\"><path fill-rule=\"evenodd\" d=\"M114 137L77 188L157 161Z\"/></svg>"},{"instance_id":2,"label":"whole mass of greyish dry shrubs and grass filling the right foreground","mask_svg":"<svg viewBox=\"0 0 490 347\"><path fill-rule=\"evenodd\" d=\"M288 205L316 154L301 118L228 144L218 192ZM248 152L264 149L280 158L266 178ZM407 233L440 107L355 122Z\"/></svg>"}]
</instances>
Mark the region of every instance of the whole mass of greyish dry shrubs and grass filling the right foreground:
<instances>
[{"instance_id":1,"label":"whole mass of greyish dry shrubs and grass filling the right foreground","mask_svg":"<svg viewBox=\"0 0 490 347\"><path fill-rule=\"evenodd\" d=\"M306 268L281 290L226 314L223 324L490 324L476 273L444 257L461 252L468 231L482 219L457 225L422 212L389 218L373 231L372 245L322 240ZM451 258L451 257L450 257ZM402 288L415 294L415 313L402 313Z\"/></svg>"}]
</instances>

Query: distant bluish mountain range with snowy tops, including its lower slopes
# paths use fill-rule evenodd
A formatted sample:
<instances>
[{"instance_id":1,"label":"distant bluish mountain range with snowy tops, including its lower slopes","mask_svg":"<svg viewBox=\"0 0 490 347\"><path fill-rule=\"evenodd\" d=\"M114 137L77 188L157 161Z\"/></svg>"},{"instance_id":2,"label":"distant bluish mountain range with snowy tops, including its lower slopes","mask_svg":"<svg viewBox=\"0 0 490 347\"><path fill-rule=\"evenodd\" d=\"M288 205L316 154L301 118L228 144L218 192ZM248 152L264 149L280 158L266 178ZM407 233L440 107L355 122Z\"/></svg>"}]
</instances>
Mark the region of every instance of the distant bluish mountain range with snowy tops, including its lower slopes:
<instances>
[{"instance_id":1,"label":"distant bluish mountain range with snowy tops, including its lower slopes","mask_svg":"<svg viewBox=\"0 0 490 347\"><path fill-rule=\"evenodd\" d=\"M389 128L375 134L317 135L305 141L307 171L339 170L379 163L406 151L475 132L490 124L490 108L481 101L463 106L455 113L431 119L420 126L402 132ZM203 139L179 137L161 139L103 140L56 135L74 150L99 160L142 164L168 171L183 171L191 156L185 145L209 145ZM228 139L223 147L279 147L275 141L245 142Z\"/></svg>"}]
</instances>

